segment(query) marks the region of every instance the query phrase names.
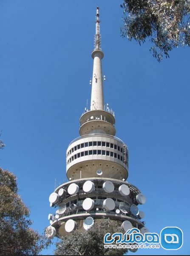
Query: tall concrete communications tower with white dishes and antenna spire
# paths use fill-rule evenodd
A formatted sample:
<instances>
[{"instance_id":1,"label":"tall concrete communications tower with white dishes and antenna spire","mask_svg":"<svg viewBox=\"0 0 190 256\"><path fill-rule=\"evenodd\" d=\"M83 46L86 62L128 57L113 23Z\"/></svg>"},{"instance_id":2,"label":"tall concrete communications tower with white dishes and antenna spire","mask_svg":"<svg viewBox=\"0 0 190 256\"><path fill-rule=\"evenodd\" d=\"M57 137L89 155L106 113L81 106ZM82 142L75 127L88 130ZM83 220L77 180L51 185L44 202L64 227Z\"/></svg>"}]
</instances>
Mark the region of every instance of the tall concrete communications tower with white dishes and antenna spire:
<instances>
[{"instance_id":1,"label":"tall concrete communications tower with white dishes and antenna spire","mask_svg":"<svg viewBox=\"0 0 190 256\"><path fill-rule=\"evenodd\" d=\"M96 8L96 34L92 52L93 74L91 106L80 117L77 139L66 152L68 182L58 186L49 196L50 226L47 237L66 236L76 228L88 230L95 221L110 218L118 221L124 231L137 227L148 232L144 213L138 205L145 196L128 183L128 147L115 137L115 115L104 103L99 8Z\"/></svg>"}]
</instances>

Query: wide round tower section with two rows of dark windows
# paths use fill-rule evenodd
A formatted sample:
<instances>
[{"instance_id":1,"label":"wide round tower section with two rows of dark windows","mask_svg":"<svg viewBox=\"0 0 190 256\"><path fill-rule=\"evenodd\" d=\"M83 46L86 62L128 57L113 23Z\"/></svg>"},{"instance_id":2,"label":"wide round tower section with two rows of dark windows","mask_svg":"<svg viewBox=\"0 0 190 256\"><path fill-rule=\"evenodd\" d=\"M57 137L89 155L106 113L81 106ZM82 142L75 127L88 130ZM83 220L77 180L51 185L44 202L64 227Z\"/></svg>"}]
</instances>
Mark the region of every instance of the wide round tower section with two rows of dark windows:
<instances>
[{"instance_id":1,"label":"wide round tower section with two rows of dark windows","mask_svg":"<svg viewBox=\"0 0 190 256\"><path fill-rule=\"evenodd\" d=\"M72 141L67 149L68 179L97 177L127 179L128 148L119 138L108 134L88 134Z\"/></svg>"}]
</instances>

